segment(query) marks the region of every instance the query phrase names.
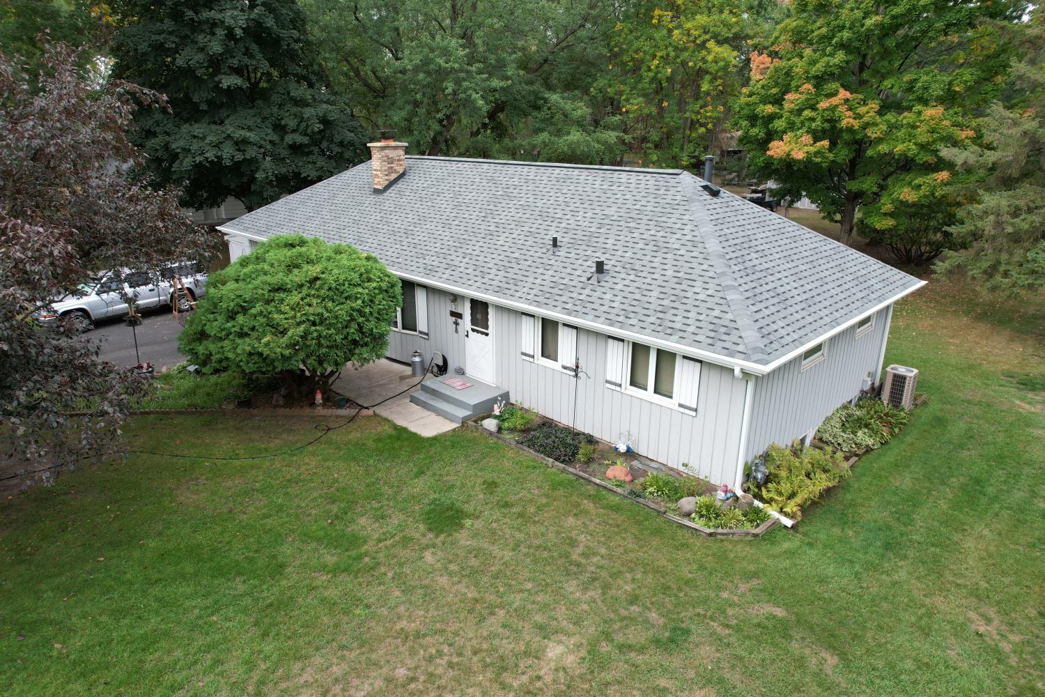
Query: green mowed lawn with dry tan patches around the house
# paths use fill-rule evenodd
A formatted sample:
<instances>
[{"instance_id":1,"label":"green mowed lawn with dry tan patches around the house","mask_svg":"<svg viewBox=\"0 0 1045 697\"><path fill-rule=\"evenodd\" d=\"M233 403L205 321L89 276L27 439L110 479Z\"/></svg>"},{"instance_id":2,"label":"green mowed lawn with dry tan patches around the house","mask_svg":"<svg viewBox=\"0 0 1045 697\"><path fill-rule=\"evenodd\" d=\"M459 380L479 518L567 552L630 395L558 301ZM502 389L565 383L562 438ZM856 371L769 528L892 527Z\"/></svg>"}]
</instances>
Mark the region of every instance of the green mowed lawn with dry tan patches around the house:
<instances>
[{"instance_id":1,"label":"green mowed lawn with dry tan patches around the house","mask_svg":"<svg viewBox=\"0 0 1045 697\"><path fill-rule=\"evenodd\" d=\"M927 405L761 540L379 417L293 457L62 477L0 504L2 691L1041 694L1045 348L968 304L934 284L898 308L886 359L922 369ZM248 455L316 422L141 417L129 437Z\"/></svg>"}]
</instances>

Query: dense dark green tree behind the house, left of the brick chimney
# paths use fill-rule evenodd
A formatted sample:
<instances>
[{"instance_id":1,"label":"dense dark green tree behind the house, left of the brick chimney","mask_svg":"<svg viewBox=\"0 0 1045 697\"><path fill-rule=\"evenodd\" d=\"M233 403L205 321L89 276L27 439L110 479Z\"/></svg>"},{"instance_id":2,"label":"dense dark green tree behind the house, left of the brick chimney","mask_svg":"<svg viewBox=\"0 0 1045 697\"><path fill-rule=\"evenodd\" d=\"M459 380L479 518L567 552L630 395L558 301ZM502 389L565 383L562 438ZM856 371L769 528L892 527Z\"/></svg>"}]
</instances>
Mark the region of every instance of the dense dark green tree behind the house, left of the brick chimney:
<instances>
[{"instance_id":1,"label":"dense dark green tree behind the house, left of the brick chimney","mask_svg":"<svg viewBox=\"0 0 1045 697\"><path fill-rule=\"evenodd\" d=\"M125 0L116 73L166 95L133 138L186 205L249 209L367 159L367 134L323 78L294 0Z\"/></svg>"}]
</instances>

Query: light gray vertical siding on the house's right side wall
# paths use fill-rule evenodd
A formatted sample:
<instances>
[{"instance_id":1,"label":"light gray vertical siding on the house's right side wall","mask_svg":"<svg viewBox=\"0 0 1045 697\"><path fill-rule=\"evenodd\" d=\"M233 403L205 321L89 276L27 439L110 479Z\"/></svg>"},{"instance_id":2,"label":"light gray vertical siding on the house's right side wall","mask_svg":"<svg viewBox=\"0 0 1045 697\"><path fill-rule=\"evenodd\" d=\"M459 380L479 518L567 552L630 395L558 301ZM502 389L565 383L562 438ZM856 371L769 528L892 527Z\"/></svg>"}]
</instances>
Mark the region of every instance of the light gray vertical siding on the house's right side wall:
<instances>
[{"instance_id":1,"label":"light gray vertical siding on the house's right side wall","mask_svg":"<svg viewBox=\"0 0 1045 697\"><path fill-rule=\"evenodd\" d=\"M877 371L888 309L876 312L875 325L860 336L852 326L829 339L823 359L806 371L798 356L756 378L745 460L761 455L771 443L784 445L802 438L860 393L867 373L874 377Z\"/></svg>"}]
</instances>

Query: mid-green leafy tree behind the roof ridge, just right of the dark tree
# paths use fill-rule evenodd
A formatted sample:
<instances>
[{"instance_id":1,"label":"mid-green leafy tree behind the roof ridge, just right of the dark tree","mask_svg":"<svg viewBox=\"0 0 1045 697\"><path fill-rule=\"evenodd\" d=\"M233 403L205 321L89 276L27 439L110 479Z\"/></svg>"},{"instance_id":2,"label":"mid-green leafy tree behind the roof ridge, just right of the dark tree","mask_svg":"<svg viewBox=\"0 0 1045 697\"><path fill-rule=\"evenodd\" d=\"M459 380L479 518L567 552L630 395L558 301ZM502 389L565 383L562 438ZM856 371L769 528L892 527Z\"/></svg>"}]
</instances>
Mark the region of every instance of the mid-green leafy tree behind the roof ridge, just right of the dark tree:
<instances>
[{"instance_id":1,"label":"mid-green leafy tree behind the roof ridge, just right of the dark tree","mask_svg":"<svg viewBox=\"0 0 1045 697\"><path fill-rule=\"evenodd\" d=\"M589 95L612 0L306 0L324 65L374 130L413 150L616 162ZM562 119L547 127L555 115ZM522 150L521 153L519 150Z\"/></svg>"}]
</instances>

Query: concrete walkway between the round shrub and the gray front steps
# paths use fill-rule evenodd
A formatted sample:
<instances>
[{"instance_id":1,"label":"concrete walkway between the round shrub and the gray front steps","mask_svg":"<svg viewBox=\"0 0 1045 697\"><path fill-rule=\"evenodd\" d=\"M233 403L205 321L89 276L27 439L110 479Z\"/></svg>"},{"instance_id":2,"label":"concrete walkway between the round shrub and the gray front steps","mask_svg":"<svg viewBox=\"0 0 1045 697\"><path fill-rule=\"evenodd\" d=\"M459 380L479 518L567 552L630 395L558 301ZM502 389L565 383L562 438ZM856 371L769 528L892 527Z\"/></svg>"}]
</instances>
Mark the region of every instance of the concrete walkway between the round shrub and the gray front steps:
<instances>
[{"instance_id":1,"label":"concrete walkway between the round shrub and the gray front steps","mask_svg":"<svg viewBox=\"0 0 1045 697\"><path fill-rule=\"evenodd\" d=\"M409 366L385 359L364 366L359 370L346 366L341 377L331 387L338 392L348 395L355 402L373 404L400 390L405 390L418 379L411 376ZM378 405L374 412L396 425L410 428L419 436L438 436L457 428L457 424L449 419L411 403L411 392L419 389L419 387L415 387L410 392L403 392Z\"/></svg>"}]
</instances>

